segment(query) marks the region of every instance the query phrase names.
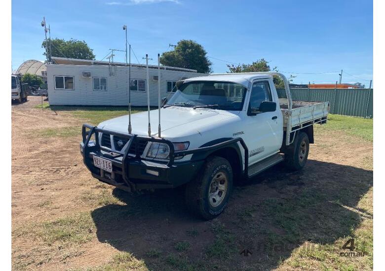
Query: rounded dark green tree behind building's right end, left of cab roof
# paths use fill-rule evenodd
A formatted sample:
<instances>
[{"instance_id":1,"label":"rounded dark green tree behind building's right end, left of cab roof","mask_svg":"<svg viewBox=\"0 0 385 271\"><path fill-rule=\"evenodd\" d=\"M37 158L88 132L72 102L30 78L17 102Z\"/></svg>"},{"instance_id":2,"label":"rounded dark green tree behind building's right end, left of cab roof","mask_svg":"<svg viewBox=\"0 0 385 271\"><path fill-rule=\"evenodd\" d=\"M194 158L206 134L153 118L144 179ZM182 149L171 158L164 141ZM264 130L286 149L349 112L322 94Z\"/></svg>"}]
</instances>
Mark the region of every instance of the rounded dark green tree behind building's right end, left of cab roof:
<instances>
[{"instance_id":1,"label":"rounded dark green tree behind building's right end, left of cab roof","mask_svg":"<svg viewBox=\"0 0 385 271\"><path fill-rule=\"evenodd\" d=\"M207 58L203 46L193 40L182 39L174 50L164 52L160 56L160 63L164 66L191 68L198 72L209 73L212 63Z\"/></svg>"}]
</instances>

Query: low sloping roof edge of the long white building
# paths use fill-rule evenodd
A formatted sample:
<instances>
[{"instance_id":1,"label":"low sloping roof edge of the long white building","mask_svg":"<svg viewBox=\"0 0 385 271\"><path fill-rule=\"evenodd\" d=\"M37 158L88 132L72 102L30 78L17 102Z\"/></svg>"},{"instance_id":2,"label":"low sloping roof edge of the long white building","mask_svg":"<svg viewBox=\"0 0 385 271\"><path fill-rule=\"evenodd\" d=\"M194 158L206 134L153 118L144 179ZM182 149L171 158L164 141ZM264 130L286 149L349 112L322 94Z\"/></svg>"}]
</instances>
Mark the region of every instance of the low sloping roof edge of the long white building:
<instances>
[{"instance_id":1,"label":"low sloping roof edge of the long white building","mask_svg":"<svg viewBox=\"0 0 385 271\"><path fill-rule=\"evenodd\" d=\"M63 57L52 57L54 64L58 65L102 65L109 66L111 63L109 61L99 61L99 60L88 60L88 59L76 59L76 58L63 58ZM126 66L125 63L122 62L114 62L114 66ZM146 68L145 64L133 64L131 63L131 67L140 67ZM149 65L149 68L158 68L157 65ZM161 69L168 70L177 70L177 71L190 71L197 72L196 69L190 68L177 68L177 67L169 67L169 66L160 66Z\"/></svg>"}]
</instances>

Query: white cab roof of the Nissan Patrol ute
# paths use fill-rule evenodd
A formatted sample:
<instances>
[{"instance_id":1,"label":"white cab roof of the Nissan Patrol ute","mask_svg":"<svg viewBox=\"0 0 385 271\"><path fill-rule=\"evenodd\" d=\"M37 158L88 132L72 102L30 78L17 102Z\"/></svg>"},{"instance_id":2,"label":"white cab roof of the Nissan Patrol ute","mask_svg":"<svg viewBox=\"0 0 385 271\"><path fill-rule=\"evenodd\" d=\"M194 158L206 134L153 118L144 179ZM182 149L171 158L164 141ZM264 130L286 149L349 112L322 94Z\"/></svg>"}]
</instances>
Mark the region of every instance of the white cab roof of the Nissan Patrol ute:
<instances>
[{"instance_id":1,"label":"white cab roof of the Nissan Patrol ute","mask_svg":"<svg viewBox=\"0 0 385 271\"><path fill-rule=\"evenodd\" d=\"M184 80L184 82L191 81L227 81L234 82L245 86L249 86L249 83L254 79L271 78L270 74L259 73L259 72L248 72L248 73L213 73L207 76L192 77Z\"/></svg>"}]
</instances>

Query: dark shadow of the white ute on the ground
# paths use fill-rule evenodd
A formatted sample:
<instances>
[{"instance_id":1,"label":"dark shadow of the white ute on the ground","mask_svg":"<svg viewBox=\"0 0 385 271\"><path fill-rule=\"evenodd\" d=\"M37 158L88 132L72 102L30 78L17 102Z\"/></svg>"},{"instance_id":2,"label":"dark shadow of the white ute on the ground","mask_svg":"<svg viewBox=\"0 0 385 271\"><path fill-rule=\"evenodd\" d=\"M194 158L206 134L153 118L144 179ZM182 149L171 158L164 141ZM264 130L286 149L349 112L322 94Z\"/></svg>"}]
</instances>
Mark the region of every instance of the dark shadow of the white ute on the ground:
<instances>
[{"instance_id":1,"label":"dark shadow of the white ute on the ground","mask_svg":"<svg viewBox=\"0 0 385 271\"><path fill-rule=\"evenodd\" d=\"M189 214L183 188L140 196L115 189L126 204L95 209L92 218L101 242L133 253L150 269L170 268L159 261L175 254L196 269L215 263L224 270L270 270L306 241L332 244L351 235L362 215L372 216L353 210L372 185L371 170L309 160L302 171L275 166L234 187L227 209L212 221ZM190 248L178 250L180 241ZM249 257L240 255L245 247L253 252Z\"/></svg>"}]
</instances>

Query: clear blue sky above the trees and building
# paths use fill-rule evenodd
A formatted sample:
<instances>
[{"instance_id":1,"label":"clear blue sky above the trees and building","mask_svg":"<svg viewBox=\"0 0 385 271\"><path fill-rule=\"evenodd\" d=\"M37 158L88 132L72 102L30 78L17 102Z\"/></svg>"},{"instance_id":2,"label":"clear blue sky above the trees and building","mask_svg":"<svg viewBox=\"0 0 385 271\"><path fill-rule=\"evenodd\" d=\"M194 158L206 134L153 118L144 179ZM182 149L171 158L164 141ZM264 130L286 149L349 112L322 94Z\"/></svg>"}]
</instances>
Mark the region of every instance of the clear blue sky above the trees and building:
<instances>
[{"instance_id":1,"label":"clear blue sky above the trees and building","mask_svg":"<svg viewBox=\"0 0 385 271\"><path fill-rule=\"evenodd\" d=\"M97 60L124 49L122 25L139 61L171 50L180 39L206 49L214 72L227 62L265 58L295 83L343 82L368 86L373 77L373 3L367 0L13 0L12 68L43 60L42 16L51 37L85 40ZM132 61L137 62L132 55ZM220 60L217 60L220 59ZM124 53L116 53L124 62ZM294 74L299 73L299 74Z\"/></svg>"}]
</instances>

